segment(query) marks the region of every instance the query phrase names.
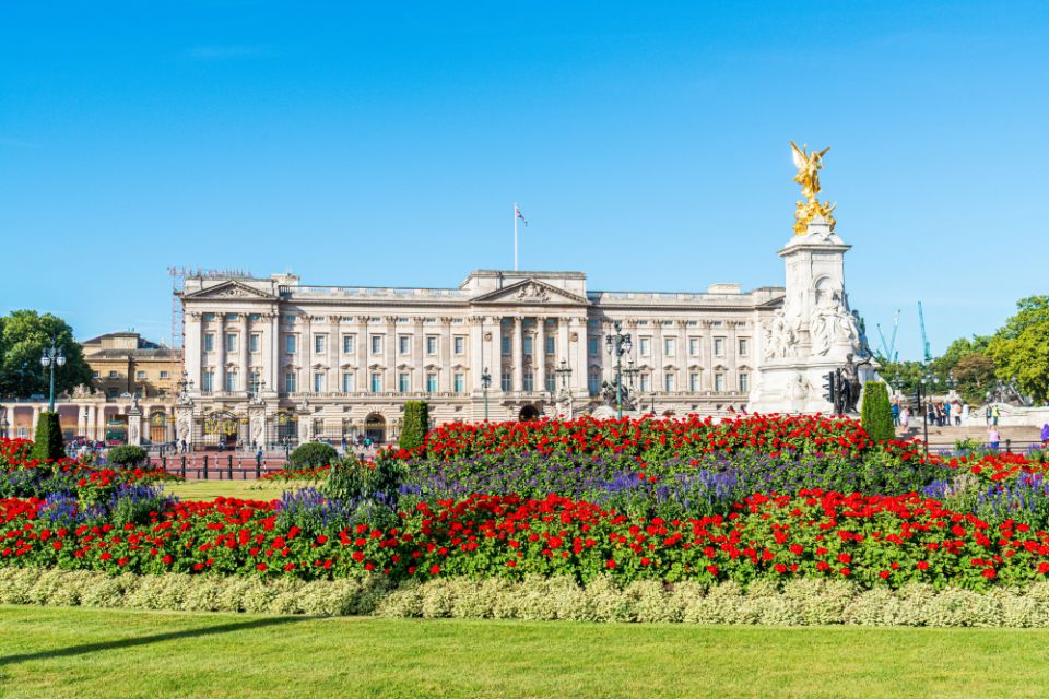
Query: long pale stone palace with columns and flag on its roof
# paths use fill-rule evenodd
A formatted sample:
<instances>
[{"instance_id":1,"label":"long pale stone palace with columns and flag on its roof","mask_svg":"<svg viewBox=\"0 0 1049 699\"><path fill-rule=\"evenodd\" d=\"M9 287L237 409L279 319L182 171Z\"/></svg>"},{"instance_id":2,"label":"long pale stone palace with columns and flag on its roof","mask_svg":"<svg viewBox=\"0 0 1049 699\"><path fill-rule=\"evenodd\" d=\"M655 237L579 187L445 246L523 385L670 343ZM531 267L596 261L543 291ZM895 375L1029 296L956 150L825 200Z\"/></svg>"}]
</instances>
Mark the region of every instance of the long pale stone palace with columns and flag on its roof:
<instances>
[{"instance_id":1,"label":"long pale stone palace with columns and flag on its roof","mask_svg":"<svg viewBox=\"0 0 1049 699\"><path fill-rule=\"evenodd\" d=\"M394 439L406 401L435 423L741 410L783 288L599 292L582 272L479 270L458 287L314 286L291 274L186 280L179 439Z\"/></svg>"}]
</instances>

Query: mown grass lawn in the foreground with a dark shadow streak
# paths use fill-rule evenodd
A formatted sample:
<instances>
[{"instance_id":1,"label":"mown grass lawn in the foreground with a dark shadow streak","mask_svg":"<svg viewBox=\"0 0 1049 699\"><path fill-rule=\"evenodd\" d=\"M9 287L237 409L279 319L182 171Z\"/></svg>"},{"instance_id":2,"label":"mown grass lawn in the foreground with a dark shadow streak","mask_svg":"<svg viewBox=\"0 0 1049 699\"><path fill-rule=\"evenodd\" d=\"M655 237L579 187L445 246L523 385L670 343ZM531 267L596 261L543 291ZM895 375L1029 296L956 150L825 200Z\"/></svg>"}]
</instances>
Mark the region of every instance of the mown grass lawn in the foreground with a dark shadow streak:
<instances>
[{"instance_id":1,"label":"mown grass lawn in the foreground with a dark shadow streak","mask_svg":"<svg viewBox=\"0 0 1049 699\"><path fill-rule=\"evenodd\" d=\"M0 606L0 696L1045 697L1049 631Z\"/></svg>"}]
</instances>

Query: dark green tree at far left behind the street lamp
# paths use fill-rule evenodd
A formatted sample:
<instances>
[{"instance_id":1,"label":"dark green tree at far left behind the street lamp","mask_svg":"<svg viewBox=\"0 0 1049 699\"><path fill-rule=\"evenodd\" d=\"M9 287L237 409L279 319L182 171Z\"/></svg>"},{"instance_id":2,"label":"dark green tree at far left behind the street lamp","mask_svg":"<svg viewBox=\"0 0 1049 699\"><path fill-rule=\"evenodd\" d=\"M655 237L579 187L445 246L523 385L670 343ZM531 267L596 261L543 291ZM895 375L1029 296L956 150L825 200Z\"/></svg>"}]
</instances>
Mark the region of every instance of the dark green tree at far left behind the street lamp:
<instances>
[{"instance_id":1,"label":"dark green tree at far left behind the street lamp","mask_svg":"<svg viewBox=\"0 0 1049 699\"><path fill-rule=\"evenodd\" d=\"M49 378L40 366L40 354L51 339L66 354L66 366L55 369L55 392L91 384L91 368L64 320L35 310L15 310L0 320L0 394L47 394Z\"/></svg>"}]
</instances>

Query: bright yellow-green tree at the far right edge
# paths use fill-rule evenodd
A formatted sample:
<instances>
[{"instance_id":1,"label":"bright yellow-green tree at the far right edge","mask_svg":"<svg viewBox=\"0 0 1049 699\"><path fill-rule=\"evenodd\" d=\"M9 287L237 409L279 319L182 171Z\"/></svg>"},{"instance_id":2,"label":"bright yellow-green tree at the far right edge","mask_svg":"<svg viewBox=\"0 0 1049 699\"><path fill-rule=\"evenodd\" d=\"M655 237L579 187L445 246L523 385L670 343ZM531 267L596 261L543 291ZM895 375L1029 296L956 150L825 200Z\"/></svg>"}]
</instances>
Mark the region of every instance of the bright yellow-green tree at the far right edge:
<instances>
[{"instance_id":1,"label":"bright yellow-green tree at the far right edge","mask_svg":"<svg viewBox=\"0 0 1049 699\"><path fill-rule=\"evenodd\" d=\"M991 337L987 355L1000 379L1042 403L1049 398L1049 296L1028 296Z\"/></svg>"}]
</instances>

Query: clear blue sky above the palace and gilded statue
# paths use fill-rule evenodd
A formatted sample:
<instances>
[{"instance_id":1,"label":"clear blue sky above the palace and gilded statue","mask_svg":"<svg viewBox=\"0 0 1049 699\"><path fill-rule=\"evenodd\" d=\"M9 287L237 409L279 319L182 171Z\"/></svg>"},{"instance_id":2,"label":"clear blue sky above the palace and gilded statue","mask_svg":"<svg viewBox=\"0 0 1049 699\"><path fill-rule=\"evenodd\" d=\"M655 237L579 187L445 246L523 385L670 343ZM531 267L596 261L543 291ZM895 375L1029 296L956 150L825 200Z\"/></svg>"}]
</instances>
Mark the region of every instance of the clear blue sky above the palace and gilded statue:
<instances>
[{"instance_id":1,"label":"clear blue sky above the palace and gilded statue","mask_svg":"<svg viewBox=\"0 0 1049 699\"><path fill-rule=\"evenodd\" d=\"M782 284L790 139L904 356L919 299L939 352L1047 292L1044 0L157 4L0 5L0 311L160 340L169 265L453 286L515 200L523 269Z\"/></svg>"}]
</instances>

